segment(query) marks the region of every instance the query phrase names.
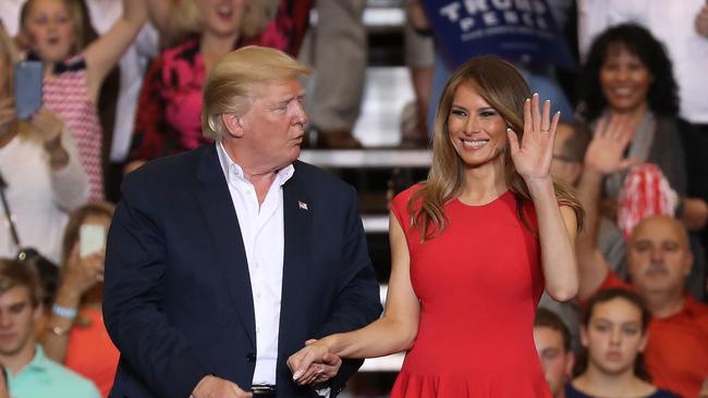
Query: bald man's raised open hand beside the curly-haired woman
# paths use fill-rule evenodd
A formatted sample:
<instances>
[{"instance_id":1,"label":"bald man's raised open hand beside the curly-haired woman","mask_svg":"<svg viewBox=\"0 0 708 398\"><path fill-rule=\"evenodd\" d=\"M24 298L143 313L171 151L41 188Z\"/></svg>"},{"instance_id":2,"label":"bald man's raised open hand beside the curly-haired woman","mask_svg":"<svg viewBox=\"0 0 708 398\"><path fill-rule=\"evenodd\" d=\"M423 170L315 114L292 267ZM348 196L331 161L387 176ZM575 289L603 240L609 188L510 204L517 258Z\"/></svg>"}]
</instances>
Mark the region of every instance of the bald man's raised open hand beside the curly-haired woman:
<instances>
[{"instance_id":1,"label":"bald man's raised open hand beside the curly-haired woman","mask_svg":"<svg viewBox=\"0 0 708 398\"><path fill-rule=\"evenodd\" d=\"M633 135L634 129L625 116L614 115L598 121L585 152L585 167L609 175L637 164L637 159L624 159Z\"/></svg>"}]
</instances>

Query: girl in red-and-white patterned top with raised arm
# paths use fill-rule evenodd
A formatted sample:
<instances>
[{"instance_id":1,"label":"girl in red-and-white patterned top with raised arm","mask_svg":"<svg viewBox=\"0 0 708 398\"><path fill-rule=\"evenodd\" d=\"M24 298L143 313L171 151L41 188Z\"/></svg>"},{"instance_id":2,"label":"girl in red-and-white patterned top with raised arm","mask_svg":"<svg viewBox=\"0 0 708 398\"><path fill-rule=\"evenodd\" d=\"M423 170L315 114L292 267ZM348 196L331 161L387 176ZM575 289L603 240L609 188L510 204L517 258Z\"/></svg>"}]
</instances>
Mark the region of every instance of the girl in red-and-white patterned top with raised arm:
<instances>
[{"instance_id":1,"label":"girl in red-and-white patterned top with raised arm","mask_svg":"<svg viewBox=\"0 0 708 398\"><path fill-rule=\"evenodd\" d=\"M85 21L71 0L29 0L20 14L27 58L44 66L45 105L71 129L90 183L90 200L103 198L102 133L96 108L103 78L147 18L143 0L123 0L124 12L102 36L84 48Z\"/></svg>"}]
</instances>

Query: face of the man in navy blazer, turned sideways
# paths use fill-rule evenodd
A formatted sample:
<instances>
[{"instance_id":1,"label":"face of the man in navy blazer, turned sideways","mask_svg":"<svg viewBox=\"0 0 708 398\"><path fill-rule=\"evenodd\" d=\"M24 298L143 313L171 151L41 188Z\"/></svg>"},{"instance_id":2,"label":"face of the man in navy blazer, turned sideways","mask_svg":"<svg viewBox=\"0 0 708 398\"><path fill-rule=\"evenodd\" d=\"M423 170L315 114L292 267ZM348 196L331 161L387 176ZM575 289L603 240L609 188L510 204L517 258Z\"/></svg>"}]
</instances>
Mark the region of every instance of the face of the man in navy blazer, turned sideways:
<instances>
[{"instance_id":1,"label":"face of the man in navy blazer, turned sideways","mask_svg":"<svg viewBox=\"0 0 708 398\"><path fill-rule=\"evenodd\" d=\"M296 79L261 86L248 111L240 117L240 159L268 170L281 169L297 159L307 123L304 96Z\"/></svg>"}]
</instances>

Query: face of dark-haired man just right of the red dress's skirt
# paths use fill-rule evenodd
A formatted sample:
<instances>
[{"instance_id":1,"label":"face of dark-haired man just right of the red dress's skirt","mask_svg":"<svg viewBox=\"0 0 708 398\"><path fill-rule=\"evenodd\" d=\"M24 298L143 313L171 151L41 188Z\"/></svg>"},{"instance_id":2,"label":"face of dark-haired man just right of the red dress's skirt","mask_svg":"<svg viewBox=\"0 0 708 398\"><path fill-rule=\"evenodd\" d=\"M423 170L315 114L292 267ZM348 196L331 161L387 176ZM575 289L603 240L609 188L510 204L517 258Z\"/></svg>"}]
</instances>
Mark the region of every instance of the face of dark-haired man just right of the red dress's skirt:
<instances>
[{"instance_id":1,"label":"face of dark-haired man just right of the red dress's skirt","mask_svg":"<svg viewBox=\"0 0 708 398\"><path fill-rule=\"evenodd\" d=\"M573 352L565 351L563 335L548 326L534 327L534 343L546 382L553 397L559 397L573 369L575 356Z\"/></svg>"}]
</instances>

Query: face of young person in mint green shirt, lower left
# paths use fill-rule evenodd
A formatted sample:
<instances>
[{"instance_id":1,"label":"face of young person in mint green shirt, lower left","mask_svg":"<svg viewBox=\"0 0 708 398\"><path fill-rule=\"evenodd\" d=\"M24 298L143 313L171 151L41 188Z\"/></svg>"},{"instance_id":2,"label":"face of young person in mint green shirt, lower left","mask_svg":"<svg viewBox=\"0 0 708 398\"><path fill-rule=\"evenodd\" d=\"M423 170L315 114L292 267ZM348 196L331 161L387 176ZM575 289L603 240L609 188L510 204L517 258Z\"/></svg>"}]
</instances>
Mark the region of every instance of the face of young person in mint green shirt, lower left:
<instances>
[{"instance_id":1,"label":"face of young person in mint green shirt, lower left","mask_svg":"<svg viewBox=\"0 0 708 398\"><path fill-rule=\"evenodd\" d=\"M34 325L39 308L32 306L29 289L16 286L0 295L0 356L20 353L34 345Z\"/></svg>"}]
</instances>

